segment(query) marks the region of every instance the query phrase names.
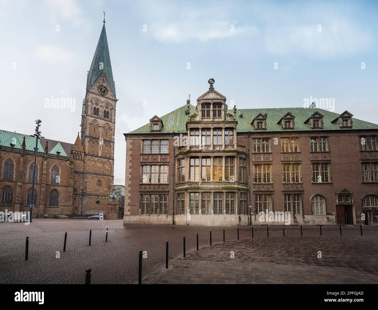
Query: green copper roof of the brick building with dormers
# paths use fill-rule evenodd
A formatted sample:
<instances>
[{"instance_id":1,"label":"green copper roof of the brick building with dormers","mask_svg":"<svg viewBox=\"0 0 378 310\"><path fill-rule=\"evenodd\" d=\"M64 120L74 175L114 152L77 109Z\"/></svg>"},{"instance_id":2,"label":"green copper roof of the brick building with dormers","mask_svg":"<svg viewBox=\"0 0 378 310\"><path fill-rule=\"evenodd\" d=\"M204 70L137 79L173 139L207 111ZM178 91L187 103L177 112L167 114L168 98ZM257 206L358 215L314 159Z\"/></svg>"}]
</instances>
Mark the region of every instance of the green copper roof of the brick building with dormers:
<instances>
[{"instance_id":1,"label":"green copper roof of the brick building with dormers","mask_svg":"<svg viewBox=\"0 0 378 310\"><path fill-rule=\"evenodd\" d=\"M185 114L186 105L181 106L175 111L168 113L161 117L163 120L163 130L161 131L150 131L150 124L146 124L134 131L131 131L129 134L154 134L154 133L185 133L186 132L186 122L187 115ZM237 128L238 132L253 132L261 131L255 130L251 125L252 120L257 115L267 114L266 116L266 130L264 131L313 131L309 124L304 122L318 111L323 117L324 126L320 130L350 130L350 129L375 129L378 130L378 125L365 122L363 120L355 119L352 117L353 126L352 128L340 128L337 122L332 123L332 121L337 118L340 114L330 112L327 110L322 110L318 108L264 108L264 109L240 109L237 110ZM282 129L282 127L277 124L279 120L290 112L293 114L295 126L294 129ZM191 114L195 113L195 106L191 105ZM228 113L233 113L232 110L228 110ZM240 117L240 114L243 114L243 117ZM319 130L319 129L317 129Z\"/></svg>"}]
</instances>

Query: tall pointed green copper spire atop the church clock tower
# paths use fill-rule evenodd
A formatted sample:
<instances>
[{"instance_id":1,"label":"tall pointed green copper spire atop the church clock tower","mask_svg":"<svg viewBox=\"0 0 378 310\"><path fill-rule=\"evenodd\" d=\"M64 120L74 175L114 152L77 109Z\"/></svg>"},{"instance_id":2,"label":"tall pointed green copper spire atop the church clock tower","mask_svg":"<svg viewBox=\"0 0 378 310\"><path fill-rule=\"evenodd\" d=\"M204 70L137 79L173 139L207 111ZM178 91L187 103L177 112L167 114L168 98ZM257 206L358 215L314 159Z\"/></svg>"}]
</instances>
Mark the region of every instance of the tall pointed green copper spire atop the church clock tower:
<instances>
[{"instance_id":1,"label":"tall pointed green copper spire atop the church clock tower","mask_svg":"<svg viewBox=\"0 0 378 310\"><path fill-rule=\"evenodd\" d=\"M100 69L100 63L103 63L103 68ZM105 22L102 26L100 38L98 39L95 55L91 63L87 78L87 89L96 82L102 72L105 72L106 78L114 96L116 96L116 89L113 80L112 64L110 63L110 54L108 48L108 40L106 38Z\"/></svg>"}]
</instances>

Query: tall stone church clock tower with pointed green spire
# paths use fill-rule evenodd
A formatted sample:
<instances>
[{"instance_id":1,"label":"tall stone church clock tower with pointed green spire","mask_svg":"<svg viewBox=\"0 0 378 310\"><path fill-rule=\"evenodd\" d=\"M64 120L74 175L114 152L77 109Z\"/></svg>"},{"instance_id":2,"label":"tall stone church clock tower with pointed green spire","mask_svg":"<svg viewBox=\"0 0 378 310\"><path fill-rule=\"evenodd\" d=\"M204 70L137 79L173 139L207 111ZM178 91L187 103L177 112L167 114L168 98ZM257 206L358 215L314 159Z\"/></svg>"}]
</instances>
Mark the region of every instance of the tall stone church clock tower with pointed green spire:
<instances>
[{"instance_id":1,"label":"tall stone church clock tower with pointed green spire","mask_svg":"<svg viewBox=\"0 0 378 310\"><path fill-rule=\"evenodd\" d=\"M82 107L83 160L74 163L74 188L79 200L74 203L76 214L106 214L108 195L113 191L116 102L104 18Z\"/></svg>"}]
</instances>

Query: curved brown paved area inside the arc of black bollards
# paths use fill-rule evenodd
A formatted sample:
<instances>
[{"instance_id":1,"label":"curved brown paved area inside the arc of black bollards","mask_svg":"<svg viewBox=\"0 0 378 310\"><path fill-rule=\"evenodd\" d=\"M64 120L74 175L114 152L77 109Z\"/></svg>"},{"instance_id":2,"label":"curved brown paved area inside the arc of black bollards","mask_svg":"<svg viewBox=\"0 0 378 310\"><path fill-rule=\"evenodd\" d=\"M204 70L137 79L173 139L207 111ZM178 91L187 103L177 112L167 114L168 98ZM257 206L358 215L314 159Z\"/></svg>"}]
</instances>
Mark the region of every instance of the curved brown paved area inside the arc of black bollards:
<instances>
[{"instance_id":1,"label":"curved brown paved area inside the arc of black bollards","mask_svg":"<svg viewBox=\"0 0 378 310\"><path fill-rule=\"evenodd\" d=\"M186 253L142 283L372 284L378 283L377 254L377 238L371 236L244 239Z\"/></svg>"}]
</instances>

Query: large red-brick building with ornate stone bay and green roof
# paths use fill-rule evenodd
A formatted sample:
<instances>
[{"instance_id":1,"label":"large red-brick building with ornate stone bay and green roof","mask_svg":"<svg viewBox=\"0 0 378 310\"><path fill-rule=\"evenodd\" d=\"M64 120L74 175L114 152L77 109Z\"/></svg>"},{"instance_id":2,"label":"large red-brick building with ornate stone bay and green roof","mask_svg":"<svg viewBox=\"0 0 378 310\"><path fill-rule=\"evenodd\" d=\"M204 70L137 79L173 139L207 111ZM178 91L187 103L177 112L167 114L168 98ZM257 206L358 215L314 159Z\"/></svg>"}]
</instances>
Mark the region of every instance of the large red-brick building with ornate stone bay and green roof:
<instances>
[{"instance_id":1,"label":"large red-brick building with ornate stone bay and green roof","mask_svg":"<svg viewBox=\"0 0 378 310\"><path fill-rule=\"evenodd\" d=\"M214 89L129 133L124 224L378 224L378 125L349 111L228 108Z\"/></svg>"}]
</instances>

